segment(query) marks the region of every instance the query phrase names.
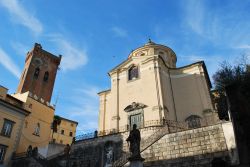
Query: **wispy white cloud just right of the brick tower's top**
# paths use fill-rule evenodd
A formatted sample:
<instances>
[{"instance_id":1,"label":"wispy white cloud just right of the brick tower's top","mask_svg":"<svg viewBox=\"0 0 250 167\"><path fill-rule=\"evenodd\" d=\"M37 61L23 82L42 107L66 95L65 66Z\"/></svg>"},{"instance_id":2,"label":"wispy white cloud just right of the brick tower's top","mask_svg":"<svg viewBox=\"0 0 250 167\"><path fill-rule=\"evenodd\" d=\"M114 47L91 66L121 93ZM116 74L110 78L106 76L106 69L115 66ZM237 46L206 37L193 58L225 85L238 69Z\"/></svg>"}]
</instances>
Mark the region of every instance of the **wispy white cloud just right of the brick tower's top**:
<instances>
[{"instance_id":1,"label":"wispy white cloud just right of the brick tower's top","mask_svg":"<svg viewBox=\"0 0 250 167\"><path fill-rule=\"evenodd\" d=\"M60 54L62 54L61 67L63 70L74 70L87 63L88 56L85 49L77 48L61 34L52 34L49 38L50 41L55 43Z\"/></svg>"}]
</instances>

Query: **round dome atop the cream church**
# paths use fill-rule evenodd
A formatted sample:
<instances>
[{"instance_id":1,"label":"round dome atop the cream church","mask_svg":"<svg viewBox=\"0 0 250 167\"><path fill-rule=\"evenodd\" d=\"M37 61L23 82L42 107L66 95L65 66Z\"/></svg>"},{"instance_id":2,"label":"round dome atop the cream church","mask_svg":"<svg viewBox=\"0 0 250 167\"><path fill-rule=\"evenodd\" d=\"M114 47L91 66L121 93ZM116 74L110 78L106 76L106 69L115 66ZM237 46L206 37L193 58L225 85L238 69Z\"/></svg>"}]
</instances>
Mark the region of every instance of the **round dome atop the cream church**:
<instances>
[{"instance_id":1,"label":"round dome atop the cream church","mask_svg":"<svg viewBox=\"0 0 250 167\"><path fill-rule=\"evenodd\" d=\"M128 58L139 57L139 56L150 57L156 55L159 55L164 60L164 62L168 67L171 68L176 67L177 57L174 51L165 45L156 44L150 39L143 46L133 50L129 54Z\"/></svg>"}]
</instances>

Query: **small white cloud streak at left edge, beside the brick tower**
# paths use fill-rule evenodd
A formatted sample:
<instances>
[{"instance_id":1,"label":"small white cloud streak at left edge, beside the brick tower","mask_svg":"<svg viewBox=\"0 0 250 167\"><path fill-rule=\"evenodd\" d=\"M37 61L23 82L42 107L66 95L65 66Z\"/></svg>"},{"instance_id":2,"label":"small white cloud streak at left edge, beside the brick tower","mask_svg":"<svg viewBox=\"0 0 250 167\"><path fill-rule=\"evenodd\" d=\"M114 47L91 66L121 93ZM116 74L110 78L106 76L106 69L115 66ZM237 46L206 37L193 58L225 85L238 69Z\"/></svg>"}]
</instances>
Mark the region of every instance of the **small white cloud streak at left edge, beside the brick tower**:
<instances>
[{"instance_id":1,"label":"small white cloud streak at left edge, beside the brick tower","mask_svg":"<svg viewBox=\"0 0 250 167\"><path fill-rule=\"evenodd\" d=\"M0 48L0 64L2 64L7 70L9 70L16 78L20 77L21 70L19 67L12 61L10 56Z\"/></svg>"}]
</instances>

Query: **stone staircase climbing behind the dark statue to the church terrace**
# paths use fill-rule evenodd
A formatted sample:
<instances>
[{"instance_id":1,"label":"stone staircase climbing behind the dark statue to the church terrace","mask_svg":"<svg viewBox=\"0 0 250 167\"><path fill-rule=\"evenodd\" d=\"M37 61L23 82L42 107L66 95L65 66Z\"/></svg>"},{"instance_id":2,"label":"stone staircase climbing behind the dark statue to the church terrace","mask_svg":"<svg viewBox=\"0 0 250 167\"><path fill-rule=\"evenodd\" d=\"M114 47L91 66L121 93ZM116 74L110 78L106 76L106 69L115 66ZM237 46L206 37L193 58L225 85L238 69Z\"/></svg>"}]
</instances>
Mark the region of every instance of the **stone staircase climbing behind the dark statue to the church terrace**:
<instances>
[{"instance_id":1,"label":"stone staircase climbing behind the dark statue to the church terrace","mask_svg":"<svg viewBox=\"0 0 250 167\"><path fill-rule=\"evenodd\" d=\"M149 136L145 140L141 141L140 152L143 152L144 150L146 150L148 147L153 145L155 142L157 142L166 134L184 131L188 129L186 123L181 123L177 121L165 120L163 124L164 125L158 131L153 133L151 136ZM113 167L124 166L128 162L128 158L130 157L130 155L131 155L130 152L124 152L122 156L113 163Z\"/></svg>"}]
</instances>

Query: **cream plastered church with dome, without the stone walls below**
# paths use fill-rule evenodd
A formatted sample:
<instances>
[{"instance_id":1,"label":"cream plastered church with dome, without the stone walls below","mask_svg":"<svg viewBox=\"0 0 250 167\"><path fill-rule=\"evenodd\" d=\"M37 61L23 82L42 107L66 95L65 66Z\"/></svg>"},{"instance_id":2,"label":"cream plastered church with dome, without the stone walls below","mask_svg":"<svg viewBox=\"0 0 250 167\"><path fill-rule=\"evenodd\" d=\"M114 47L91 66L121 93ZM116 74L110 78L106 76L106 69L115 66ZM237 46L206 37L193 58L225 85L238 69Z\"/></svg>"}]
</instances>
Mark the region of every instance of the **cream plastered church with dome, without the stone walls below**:
<instances>
[{"instance_id":1,"label":"cream plastered church with dome, without the stone walls below","mask_svg":"<svg viewBox=\"0 0 250 167\"><path fill-rule=\"evenodd\" d=\"M176 62L171 48L149 41L109 71L111 89L99 93L99 132L129 130L133 124L144 128L164 120L199 127L214 112L205 63L177 68Z\"/></svg>"}]
</instances>

